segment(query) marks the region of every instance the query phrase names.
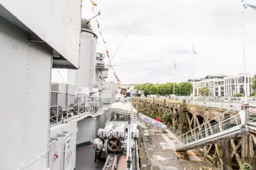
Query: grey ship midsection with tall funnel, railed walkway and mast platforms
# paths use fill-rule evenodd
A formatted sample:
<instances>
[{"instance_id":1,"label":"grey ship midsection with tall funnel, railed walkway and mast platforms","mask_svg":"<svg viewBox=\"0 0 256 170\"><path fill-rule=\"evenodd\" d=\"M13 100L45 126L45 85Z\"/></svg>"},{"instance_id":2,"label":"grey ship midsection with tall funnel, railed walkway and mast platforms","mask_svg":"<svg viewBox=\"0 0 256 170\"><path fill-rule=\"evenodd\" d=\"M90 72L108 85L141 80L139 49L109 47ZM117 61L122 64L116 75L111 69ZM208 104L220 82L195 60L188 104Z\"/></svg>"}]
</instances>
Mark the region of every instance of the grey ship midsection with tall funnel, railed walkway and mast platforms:
<instances>
[{"instance_id":1,"label":"grey ship midsection with tall funnel, railed walkway and mast platforms","mask_svg":"<svg viewBox=\"0 0 256 170\"><path fill-rule=\"evenodd\" d=\"M107 89L108 69L102 54L96 53L97 36L89 21L82 19L81 23L80 67L68 70L68 84L52 84L50 170L61 170L62 166L73 170L76 147L89 145L96 130L112 117L109 106L115 102L117 86Z\"/></svg>"}]
</instances>

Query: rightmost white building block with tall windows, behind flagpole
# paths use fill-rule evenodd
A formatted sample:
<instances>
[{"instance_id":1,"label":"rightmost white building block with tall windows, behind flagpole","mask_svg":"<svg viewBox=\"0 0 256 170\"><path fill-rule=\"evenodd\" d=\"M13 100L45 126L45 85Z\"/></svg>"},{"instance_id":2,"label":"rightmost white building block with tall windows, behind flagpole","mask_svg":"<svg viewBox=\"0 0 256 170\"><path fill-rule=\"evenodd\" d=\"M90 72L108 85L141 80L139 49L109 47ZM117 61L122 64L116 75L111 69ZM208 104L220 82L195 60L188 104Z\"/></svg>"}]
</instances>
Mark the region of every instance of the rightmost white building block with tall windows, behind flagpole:
<instances>
[{"instance_id":1,"label":"rightmost white building block with tall windows, behind flagpole","mask_svg":"<svg viewBox=\"0 0 256 170\"><path fill-rule=\"evenodd\" d=\"M251 88L251 79L253 75L246 73L240 73L233 76L225 77L225 96L234 96L235 93L244 93L244 81L246 80L246 92L247 96L250 96L252 91Z\"/></svg>"}]
</instances>

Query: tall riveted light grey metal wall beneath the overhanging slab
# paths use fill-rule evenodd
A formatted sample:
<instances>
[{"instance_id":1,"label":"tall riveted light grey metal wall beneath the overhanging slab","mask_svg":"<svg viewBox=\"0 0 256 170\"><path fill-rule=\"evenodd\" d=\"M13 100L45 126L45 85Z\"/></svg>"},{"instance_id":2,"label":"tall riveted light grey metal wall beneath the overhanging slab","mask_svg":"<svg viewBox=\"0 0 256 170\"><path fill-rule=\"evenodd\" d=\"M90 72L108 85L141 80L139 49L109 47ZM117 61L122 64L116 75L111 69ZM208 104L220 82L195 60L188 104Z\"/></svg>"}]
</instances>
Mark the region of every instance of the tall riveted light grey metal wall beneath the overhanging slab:
<instances>
[{"instance_id":1,"label":"tall riveted light grey metal wall beneath the overhanging slab","mask_svg":"<svg viewBox=\"0 0 256 170\"><path fill-rule=\"evenodd\" d=\"M0 59L0 169L45 170L51 51L0 16Z\"/></svg>"}]
</instances>

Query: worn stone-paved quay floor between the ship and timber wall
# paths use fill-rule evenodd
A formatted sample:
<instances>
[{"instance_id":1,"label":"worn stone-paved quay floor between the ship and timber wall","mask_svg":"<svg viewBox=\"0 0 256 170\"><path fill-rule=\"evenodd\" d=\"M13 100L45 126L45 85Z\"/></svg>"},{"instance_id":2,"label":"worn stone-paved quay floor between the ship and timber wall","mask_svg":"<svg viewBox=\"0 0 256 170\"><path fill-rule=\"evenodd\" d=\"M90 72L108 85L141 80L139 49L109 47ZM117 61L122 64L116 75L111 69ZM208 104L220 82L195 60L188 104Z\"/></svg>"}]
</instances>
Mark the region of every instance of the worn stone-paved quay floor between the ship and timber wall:
<instances>
[{"instance_id":1,"label":"worn stone-paved quay floor between the ship and timber wall","mask_svg":"<svg viewBox=\"0 0 256 170\"><path fill-rule=\"evenodd\" d=\"M207 166L212 168L212 170L218 170L215 167L213 168L211 162L204 160L203 156L196 155L197 153L193 153L190 150L176 152L174 149L174 139L176 139L176 136L169 130L165 134L159 129L142 124L140 127L153 165L152 170L188 170L190 168L198 170L200 166ZM148 162L146 161L142 139L139 140L139 146L141 170L148 170Z\"/></svg>"}]
</instances>

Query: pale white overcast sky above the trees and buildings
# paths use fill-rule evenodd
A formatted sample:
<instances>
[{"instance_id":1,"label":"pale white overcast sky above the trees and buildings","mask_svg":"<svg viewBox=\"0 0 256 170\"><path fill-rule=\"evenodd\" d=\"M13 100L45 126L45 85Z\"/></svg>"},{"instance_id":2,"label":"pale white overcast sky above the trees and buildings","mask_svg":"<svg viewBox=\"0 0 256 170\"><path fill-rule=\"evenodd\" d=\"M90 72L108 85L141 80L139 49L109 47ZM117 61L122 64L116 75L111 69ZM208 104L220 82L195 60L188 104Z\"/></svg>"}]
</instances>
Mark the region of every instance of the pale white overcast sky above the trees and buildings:
<instances>
[{"instance_id":1,"label":"pale white overcast sky above the trees and buildings","mask_svg":"<svg viewBox=\"0 0 256 170\"><path fill-rule=\"evenodd\" d=\"M122 84L183 82L206 75L234 75L244 71L240 0L93 0L101 10L98 21L110 57L128 33L112 60ZM245 0L256 5L256 0ZM92 17L90 0L83 0L82 17ZM246 72L256 73L256 10L245 10ZM97 51L104 44L98 35ZM174 68L174 60L177 71ZM66 77L65 71L61 70ZM114 80L113 72L109 73ZM53 81L60 81L53 71Z\"/></svg>"}]
</instances>

